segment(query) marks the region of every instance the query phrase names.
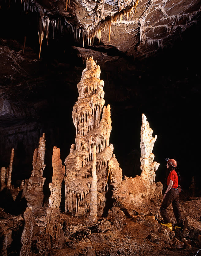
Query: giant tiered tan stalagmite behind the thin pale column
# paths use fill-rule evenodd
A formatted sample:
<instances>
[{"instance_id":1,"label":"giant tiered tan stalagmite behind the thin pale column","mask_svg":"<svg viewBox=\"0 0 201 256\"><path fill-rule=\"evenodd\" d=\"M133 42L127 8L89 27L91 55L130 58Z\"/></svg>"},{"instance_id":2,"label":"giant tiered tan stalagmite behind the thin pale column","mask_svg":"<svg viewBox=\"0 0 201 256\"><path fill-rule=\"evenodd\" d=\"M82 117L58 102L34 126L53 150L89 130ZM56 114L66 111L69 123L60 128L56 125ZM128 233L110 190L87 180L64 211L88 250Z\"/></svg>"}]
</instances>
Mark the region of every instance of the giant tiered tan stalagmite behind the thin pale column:
<instances>
[{"instance_id":1,"label":"giant tiered tan stalagmite behind the thin pale column","mask_svg":"<svg viewBox=\"0 0 201 256\"><path fill-rule=\"evenodd\" d=\"M112 121L110 105L104 106L104 82L99 77L100 67L93 57L87 59L86 68L77 86L78 101L72 112L76 128L75 145L71 145L70 154L65 160L65 210L76 216L83 216L90 209L94 146L96 146L97 213L99 215L103 213L105 206L105 187L108 177L106 166L113 153L113 145L109 145ZM119 176L119 174L121 175L120 168L113 175Z\"/></svg>"}]
</instances>

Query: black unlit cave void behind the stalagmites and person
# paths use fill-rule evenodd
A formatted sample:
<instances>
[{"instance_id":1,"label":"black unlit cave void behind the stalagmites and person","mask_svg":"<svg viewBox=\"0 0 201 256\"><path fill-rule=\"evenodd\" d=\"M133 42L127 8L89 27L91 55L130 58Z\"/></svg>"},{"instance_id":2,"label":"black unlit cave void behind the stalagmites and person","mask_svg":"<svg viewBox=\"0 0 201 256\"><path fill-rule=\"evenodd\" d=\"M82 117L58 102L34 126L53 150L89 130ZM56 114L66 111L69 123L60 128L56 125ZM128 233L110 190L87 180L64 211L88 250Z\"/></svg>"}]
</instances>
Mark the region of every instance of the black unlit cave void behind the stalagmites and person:
<instances>
[{"instance_id":1,"label":"black unlit cave void behind the stalagmites and person","mask_svg":"<svg viewBox=\"0 0 201 256\"><path fill-rule=\"evenodd\" d=\"M55 32L54 39L50 36L48 46L44 40L39 60L39 17L34 12L26 14L19 2L10 2L9 7L8 4L2 2L0 9L0 49L22 50L26 35L24 57L37 61L25 64L28 78L21 77L17 71L11 76L3 68L4 55L0 54L1 98L26 113L21 116L1 114L0 166L9 166L10 152L14 148L12 183L17 185L17 180L29 178L33 151L45 133L47 188L52 176L53 146L60 148L64 164L75 139L71 113L85 62L72 46L82 47L82 42L75 41L63 28L65 33ZM118 58L109 62L97 60L100 79L104 81L105 105L111 106L110 143L114 145L123 175L140 174L140 129L144 113L154 130L153 135L157 134L153 153L154 161L160 166L156 181L164 182L165 158L168 157L177 160L184 189L190 186L192 176L199 187L200 28L198 21L171 47L159 49L147 58L134 58L111 47L107 55ZM93 50L93 47L86 48ZM99 49L105 51L101 43Z\"/></svg>"}]
</instances>

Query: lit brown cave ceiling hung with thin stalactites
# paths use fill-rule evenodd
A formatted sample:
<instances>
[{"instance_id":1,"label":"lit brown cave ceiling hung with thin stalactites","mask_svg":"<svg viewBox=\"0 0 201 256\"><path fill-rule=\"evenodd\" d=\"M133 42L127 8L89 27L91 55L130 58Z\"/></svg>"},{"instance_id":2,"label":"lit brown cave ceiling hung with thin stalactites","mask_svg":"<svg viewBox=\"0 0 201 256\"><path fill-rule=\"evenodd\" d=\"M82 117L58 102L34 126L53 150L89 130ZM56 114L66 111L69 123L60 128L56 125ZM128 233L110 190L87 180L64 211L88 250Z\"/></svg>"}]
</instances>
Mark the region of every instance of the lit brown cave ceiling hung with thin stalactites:
<instances>
[{"instance_id":1,"label":"lit brown cave ceiling hung with thin stalactites","mask_svg":"<svg viewBox=\"0 0 201 256\"><path fill-rule=\"evenodd\" d=\"M83 56L92 45L129 56L150 56L171 46L200 19L199 0L23 0L21 8L28 15L40 14L41 45L55 33L73 34L76 50Z\"/></svg>"}]
</instances>

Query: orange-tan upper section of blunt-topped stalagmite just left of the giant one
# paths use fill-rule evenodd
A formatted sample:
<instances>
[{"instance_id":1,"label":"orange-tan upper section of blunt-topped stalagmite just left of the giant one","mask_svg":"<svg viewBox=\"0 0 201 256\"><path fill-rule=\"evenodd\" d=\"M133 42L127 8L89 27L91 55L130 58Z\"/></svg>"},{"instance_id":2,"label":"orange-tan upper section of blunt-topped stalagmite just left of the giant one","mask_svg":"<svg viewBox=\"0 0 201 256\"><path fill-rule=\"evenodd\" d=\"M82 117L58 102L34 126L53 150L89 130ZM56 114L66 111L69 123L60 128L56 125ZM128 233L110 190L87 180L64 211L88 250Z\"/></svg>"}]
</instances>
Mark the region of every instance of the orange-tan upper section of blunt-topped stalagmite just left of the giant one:
<instances>
[{"instance_id":1,"label":"orange-tan upper section of blunt-topped stalagmite just left of the giant one","mask_svg":"<svg viewBox=\"0 0 201 256\"><path fill-rule=\"evenodd\" d=\"M61 202L61 185L65 174L65 166L60 159L60 149L54 146L52 155L53 175L52 182L49 184L51 195L49 204L51 208L59 208Z\"/></svg>"}]
</instances>

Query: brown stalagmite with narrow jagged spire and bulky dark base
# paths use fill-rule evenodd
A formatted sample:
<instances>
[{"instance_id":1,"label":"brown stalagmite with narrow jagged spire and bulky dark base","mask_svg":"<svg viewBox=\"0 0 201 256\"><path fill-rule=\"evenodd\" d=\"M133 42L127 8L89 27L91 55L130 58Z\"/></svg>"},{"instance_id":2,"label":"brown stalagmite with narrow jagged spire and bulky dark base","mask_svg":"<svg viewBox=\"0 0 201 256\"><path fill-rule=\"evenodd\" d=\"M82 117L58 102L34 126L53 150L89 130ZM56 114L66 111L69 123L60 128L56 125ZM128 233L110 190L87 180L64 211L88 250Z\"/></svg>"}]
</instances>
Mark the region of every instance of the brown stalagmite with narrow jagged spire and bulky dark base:
<instances>
[{"instance_id":1,"label":"brown stalagmite with narrow jagged spire and bulky dark base","mask_svg":"<svg viewBox=\"0 0 201 256\"><path fill-rule=\"evenodd\" d=\"M45 156L45 134L40 137L39 147L34 150L33 154L33 170L31 177L26 180L26 185L24 186L23 195L27 200L27 206L32 207L32 211L37 207L42 207L43 205L43 185L45 179L43 177L43 170L45 168L44 164Z\"/></svg>"}]
</instances>

